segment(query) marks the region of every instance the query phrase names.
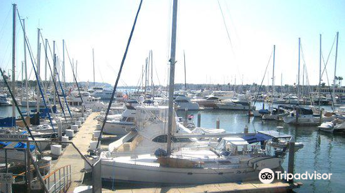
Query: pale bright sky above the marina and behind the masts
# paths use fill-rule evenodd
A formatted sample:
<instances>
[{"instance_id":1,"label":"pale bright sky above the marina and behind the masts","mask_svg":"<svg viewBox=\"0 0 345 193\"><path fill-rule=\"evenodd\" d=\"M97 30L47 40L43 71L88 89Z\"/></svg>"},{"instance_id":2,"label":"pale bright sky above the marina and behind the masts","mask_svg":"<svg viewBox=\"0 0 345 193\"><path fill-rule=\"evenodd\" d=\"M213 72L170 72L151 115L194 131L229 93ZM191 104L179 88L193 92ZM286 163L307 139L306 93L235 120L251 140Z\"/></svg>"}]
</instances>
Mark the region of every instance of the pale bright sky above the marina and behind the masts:
<instances>
[{"instance_id":1,"label":"pale bright sky above the marina and behind the masts","mask_svg":"<svg viewBox=\"0 0 345 193\"><path fill-rule=\"evenodd\" d=\"M52 41L56 42L61 60L62 39L66 41L70 60L77 63L78 81L93 81L94 48L96 81L114 85L139 2L0 1L0 67L12 69L12 3L17 3L21 18L26 19L26 33L34 58L37 56L37 28L40 28L51 48ZM172 0L144 0L119 85L139 84L150 50L155 85L168 83L171 15ZM275 84L297 83L298 38L301 38L300 83L304 77L304 83L308 78L311 85L316 85L319 82L319 34L322 34L325 63L328 54L330 56L326 69L331 83L337 32L336 75L345 77L344 23L343 0L180 0L175 83L184 83L185 52L187 83L233 84L236 80L237 84L242 81L260 84L268 64L264 84L272 84L273 45L276 46ZM18 18L16 34L16 79L21 79L24 48ZM41 79L45 79L43 48L41 54ZM34 79L29 54L27 60L28 74ZM66 52L65 60L66 81L72 81L72 65ZM303 76L304 65L307 73ZM322 80L328 84L326 73Z\"/></svg>"}]
</instances>

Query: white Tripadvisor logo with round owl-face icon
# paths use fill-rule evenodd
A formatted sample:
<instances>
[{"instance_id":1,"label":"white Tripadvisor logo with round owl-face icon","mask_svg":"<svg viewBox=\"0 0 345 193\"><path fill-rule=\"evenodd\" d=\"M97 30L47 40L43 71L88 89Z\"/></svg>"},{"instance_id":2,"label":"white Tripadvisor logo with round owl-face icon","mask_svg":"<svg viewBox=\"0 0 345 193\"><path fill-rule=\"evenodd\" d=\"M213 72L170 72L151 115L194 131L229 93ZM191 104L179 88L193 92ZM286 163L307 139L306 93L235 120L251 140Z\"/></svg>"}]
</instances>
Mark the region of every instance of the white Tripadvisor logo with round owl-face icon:
<instances>
[{"instance_id":1,"label":"white Tripadvisor logo with round owl-face icon","mask_svg":"<svg viewBox=\"0 0 345 193\"><path fill-rule=\"evenodd\" d=\"M259 172L259 180L262 183L272 183L273 180L275 179L275 174L277 176L277 180L286 180L286 181L290 181L293 179L331 180L331 176L332 176L332 174L326 174L326 173L321 174L316 171L314 171L313 173L304 172L302 174L301 173L290 174L290 173L280 172L280 171L273 172L269 168L264 168Z\"/></svg>"}]
</instances>

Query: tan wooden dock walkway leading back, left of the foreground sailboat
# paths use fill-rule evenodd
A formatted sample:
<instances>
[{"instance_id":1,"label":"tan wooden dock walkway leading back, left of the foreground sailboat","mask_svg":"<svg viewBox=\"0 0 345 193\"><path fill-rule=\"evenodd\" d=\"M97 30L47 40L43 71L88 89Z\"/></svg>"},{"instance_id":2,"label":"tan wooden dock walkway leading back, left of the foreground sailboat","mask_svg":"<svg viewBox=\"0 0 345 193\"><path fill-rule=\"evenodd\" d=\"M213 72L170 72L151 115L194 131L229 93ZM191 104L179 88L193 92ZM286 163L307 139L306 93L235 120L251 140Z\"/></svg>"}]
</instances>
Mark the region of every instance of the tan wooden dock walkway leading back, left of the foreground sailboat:
<instances>
[{"instance_id":1,"label":"tan wooden dock walkway leading back, left of the foreground sailboat","mask_svg":"<svg viewBox=\"0 0 345 193\"><path fill-rule=\"evenodd\" d=\"M97 116L97 114L97 112L92 112L92 114L88 116L86 121L79 128L79 132L77 132L75 137L73 137L71 140L83 155L88 154L89 143L92 140L93 132L96 130L97 120L94 118ZM61 156L52 166L51 170L54 171L55 169L65 165L71 165L72 183L68 189L68 192L73 192L75 187L81 185L83 182L84 161L81 159L80 154L72 145L68 145L68 147L63 150Z\"/></svg>"}]
</instances>

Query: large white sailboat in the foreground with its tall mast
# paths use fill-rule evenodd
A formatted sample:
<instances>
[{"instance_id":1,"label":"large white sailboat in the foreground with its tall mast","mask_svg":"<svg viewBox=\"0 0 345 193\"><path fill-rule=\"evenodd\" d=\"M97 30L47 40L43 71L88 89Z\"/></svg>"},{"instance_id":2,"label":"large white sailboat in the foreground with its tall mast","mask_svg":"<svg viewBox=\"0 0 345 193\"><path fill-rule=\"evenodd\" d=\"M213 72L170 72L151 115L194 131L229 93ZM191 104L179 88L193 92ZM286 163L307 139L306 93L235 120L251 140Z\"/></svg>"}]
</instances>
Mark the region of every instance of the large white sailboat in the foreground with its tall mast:
<instances>
[{"instance_id":1,"label":"large white sailboat in the foreground with its tall mast","mask_svg":"<svg viewBox=\"0 0 345 193\"><path fill-rule=\"evenodd\" d=\"M172 134L177 130L173 109L177 0L173 1L172 10L168 108L160 107L157 111L159 116L152 116L152 113L146 110L148 107L137 108L136 112L136 129L139 131L148 126L164 125L168 132L162 139L157 140L161 140L161 146L166 150L158 149L155 154L119 157L108 157L102 152L102 179L134 183L225 183L257 179L263 168L280 170L283 162L281 157L270 156L265 150L255 148L254 145L248 150L248 142L239 137L219 139L215 148L210 150L174 149L172 143L175 143L176 135Z\"/></svg>"}]
</instances>

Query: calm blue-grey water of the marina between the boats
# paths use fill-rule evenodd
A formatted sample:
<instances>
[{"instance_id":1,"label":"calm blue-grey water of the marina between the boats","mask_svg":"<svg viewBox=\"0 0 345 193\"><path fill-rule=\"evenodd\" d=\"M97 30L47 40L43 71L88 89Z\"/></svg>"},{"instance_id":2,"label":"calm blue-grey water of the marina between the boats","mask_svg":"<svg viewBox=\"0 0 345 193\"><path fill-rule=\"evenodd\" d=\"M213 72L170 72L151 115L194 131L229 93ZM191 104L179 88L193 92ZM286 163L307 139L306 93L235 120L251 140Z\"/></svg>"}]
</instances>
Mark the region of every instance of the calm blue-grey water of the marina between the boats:
<instances>
[{"instance_id":1,"label":"calm blue-grey water of the marina between the boats","mask_svg":"<svg viewBox=\"0 0 345 193\"><path fill-rule=\"evenodd\" d=\"M258 103L261 109L262 104ZM329 109L330 107L324 107ZM25 110L25 108L23 108ZM0 107L0 116L10 116L11 107ZM184 116L184 112L177 112ZM197 111L190 111L195 114ZM244 126L248 125L249 132L255 130L277 130L284 134L290 134L296 141L304 143L304 148L295 154L295 173L314 172L332 173L331 180L299 180L304 185L295 190L296 192L344 192L345 179L345 136L318 132L316 127L296 127L277 121L261 121L251 118L248 123L246 112L227 110L203 110L201 113L201 126L215 128L219 118L220 127L230 132L243 132ZM283 126L277 129L277 126ZM288 160L284 161L284 169L287 170Z\"/></svg>"}]
</instances>

